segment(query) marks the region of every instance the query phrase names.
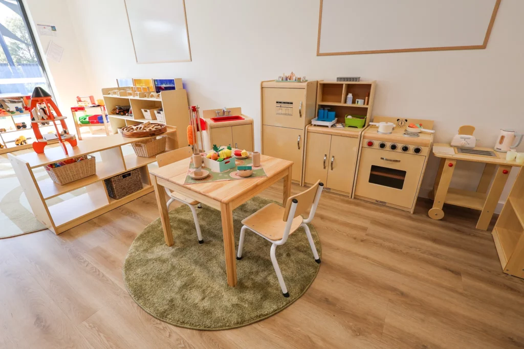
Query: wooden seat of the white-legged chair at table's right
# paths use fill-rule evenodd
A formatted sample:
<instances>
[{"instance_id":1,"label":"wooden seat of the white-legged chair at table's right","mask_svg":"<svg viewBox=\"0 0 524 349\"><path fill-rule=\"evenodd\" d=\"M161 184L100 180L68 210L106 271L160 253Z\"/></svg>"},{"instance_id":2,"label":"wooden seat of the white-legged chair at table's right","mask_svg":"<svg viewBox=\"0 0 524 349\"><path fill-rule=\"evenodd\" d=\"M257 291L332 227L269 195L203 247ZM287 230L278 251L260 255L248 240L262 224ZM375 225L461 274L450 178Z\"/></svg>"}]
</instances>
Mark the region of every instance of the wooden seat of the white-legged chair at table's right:
<instances>
[{"instance_id":1,"label":"wooden seat of the white-legged chair at table's right","mask_svg":"<svg viewBox=\"0 0 524 349\"><path fill-rule=\"evenodd\" d=\"M268 204L253 213L253 215L242 220L242 224L255 230L268 240L277 241L282 239L284 230L286 229L287 222L282 220L285 210L285 208L277 204ZM302 224L302 221L302 216L294 218L289 234L297 230L300 224Z\"/></svg>"}]
</instances>

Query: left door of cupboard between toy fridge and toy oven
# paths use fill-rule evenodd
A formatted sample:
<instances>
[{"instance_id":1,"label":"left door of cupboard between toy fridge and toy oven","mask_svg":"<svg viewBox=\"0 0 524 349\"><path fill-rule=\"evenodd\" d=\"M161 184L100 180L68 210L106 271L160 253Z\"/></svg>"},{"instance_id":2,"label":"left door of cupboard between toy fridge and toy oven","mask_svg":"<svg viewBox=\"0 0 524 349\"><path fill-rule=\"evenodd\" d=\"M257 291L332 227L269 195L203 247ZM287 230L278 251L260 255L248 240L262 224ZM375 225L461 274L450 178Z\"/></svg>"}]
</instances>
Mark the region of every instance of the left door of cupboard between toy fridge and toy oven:
<instances>
[{"instance_id":1,"label":"left door of cupboard between toy fridge and toy oven","mask_svg":"<svg viewBox=\"0 0 524 349\"><path fill-rule=\"evenodd\" d=\"M305 183L315 184L320 179L320 182L326 185L330 144L330 134L308 132L308 147L305 151Z\"/></svg>"}]
</instances>

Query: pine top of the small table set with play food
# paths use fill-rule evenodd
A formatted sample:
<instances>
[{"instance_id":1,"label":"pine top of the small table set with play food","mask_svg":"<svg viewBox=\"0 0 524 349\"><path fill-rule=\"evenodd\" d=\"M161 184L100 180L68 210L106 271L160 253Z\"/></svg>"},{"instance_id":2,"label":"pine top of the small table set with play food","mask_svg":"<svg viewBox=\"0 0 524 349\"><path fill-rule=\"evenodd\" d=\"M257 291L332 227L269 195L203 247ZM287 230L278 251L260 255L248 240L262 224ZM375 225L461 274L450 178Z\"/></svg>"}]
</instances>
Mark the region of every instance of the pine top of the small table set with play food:
<instances>
[{"instance_id":1,"label":"pine top of the small table set with play food","mask_svg":"<svg viewBox=\"0 0 524 349\"><path fill-rule=\"evenodd\" d=\"M227 204L249 190L268 181L278 173L287 170L293 165L292 161L278 159L277 157L260 155L260 164L264 167L267 177L236 179L235 181L220 181L184 185L188 173L190 158L172 164L149 170L149 173L165 179L175 185L183 186L192 192L207 196L213 200Z\"/></svg>"}]
</instances>

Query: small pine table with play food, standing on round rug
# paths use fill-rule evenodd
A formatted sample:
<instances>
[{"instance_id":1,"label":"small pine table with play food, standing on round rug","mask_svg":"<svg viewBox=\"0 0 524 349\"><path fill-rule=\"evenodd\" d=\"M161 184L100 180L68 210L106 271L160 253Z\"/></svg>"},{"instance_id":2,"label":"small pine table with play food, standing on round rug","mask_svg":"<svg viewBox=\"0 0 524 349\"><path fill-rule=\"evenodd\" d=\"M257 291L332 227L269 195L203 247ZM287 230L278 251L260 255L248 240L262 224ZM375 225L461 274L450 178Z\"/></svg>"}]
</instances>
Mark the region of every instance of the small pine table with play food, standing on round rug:
<instances>
[{"instance_id":1,"label":"small pine table with play food, standing on round rug","mask_svg":"<svg viewBox=\"0 0 524 349\"><path fill-rule=\"evenodd\" d=\"M282 204L286 205L286 201L291 193L291 166L293 162L261 155L260 162L266 171L267 177L184 185L189 161L190 158L188 157L188 159L150 171L166 245L173 245L173 234L169 224L164 187L221 211L227 284L236 286L233 210L263 192L263 190L275 184L281 178L284 179Z\"/></svg>"}]
</instances>

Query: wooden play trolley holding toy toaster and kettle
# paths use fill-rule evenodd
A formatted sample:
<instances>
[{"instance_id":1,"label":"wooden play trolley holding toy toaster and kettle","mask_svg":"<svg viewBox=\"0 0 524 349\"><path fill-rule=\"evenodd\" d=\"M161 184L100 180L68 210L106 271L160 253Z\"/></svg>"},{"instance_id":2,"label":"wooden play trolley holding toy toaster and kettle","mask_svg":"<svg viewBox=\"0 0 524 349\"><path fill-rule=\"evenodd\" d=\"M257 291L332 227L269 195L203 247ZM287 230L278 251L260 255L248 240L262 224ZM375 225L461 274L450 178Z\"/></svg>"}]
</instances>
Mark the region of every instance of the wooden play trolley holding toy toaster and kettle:
<instances>
[{"instance_id":1,"label":"wooden play trolley holding toy toaster and kettle","mask_svg":"<svg viewBox=\"0 0 524 349\"><path fill-rule=\"evenodd\" d=\"M428 215L433 219L442 219L444 217L444 211L442 210L444 204L473 208L481 211L481 217L478 218L476 228L487 230L500 194L502 194L502 190L508 180L511 167L520 167L521 165L515 161L506 161L506 153L498 153L491 148L475 147L474 149L493 151L496 156L464 154L457 152L456 147L451 147L449 144L433 144L433 155L440 157L441 161L439 172L435 178L433 192L430 193L430 197L431 194L434 196L434 202ZM442 150L447 150L449 153L441 152ZM453 176L457 160L483 162L486 164L476 192L450 188L451 177ZM494 175L495 178L493 178ZM489 187L492 178L493 184Z\"/></svg>"}]
</instances>

